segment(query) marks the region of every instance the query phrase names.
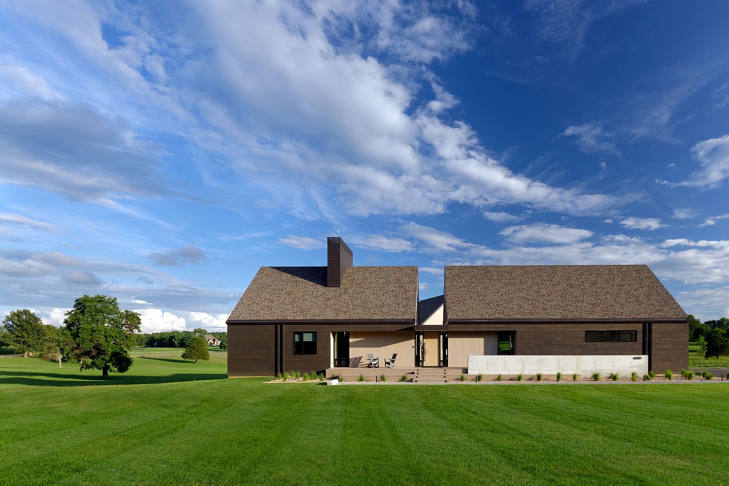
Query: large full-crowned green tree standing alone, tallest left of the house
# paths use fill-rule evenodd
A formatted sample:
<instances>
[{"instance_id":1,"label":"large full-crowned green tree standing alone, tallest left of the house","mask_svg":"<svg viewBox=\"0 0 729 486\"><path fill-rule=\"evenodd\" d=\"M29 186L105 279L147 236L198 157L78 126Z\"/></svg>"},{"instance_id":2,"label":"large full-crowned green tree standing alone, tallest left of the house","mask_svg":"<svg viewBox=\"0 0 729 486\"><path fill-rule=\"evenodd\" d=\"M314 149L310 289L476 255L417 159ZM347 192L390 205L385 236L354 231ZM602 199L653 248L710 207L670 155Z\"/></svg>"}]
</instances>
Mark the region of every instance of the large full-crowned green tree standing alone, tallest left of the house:
<instances>
[{"instance_id":1,"label":"large full-crowned green tree standing alone, tallest left of the house","mask_svg":"<svg viewBox=\"0 0 729 486\"><path fill-rule=\"evenodd\" d=\"M139 332L141 318L131 310L120 310L114 297L79 297L63 324L74 340L74 358L82 370L101 369L106 380L110 371L124 373L131 367L129 350L136 345L134 332Z\"/></svg>"}]
</instances>

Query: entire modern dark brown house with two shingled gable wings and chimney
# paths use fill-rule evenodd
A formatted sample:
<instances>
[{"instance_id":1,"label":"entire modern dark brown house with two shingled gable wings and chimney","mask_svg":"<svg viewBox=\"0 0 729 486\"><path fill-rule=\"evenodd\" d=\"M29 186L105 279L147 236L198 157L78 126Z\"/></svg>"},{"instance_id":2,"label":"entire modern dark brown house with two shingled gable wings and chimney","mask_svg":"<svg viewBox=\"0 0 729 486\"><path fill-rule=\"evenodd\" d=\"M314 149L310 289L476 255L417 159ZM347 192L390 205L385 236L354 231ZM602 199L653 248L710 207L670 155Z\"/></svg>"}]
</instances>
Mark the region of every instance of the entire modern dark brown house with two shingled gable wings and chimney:
<instances>
[{"instance_id":1,"label":"entire modern dark brown house with two shingled gable wings and chimney","mask_svg":"<svg viewBox=\"0 0 729 486\"><path fill-rule=\"evenodd\" d=\"M410 372L687 367L687 315L646 265L447 266L444 279L419 301L417 267L356 267L341 238L326 267L261 267L227 320L228 375L360 369L369 354Z\"/></svg>"}]
</instances>

